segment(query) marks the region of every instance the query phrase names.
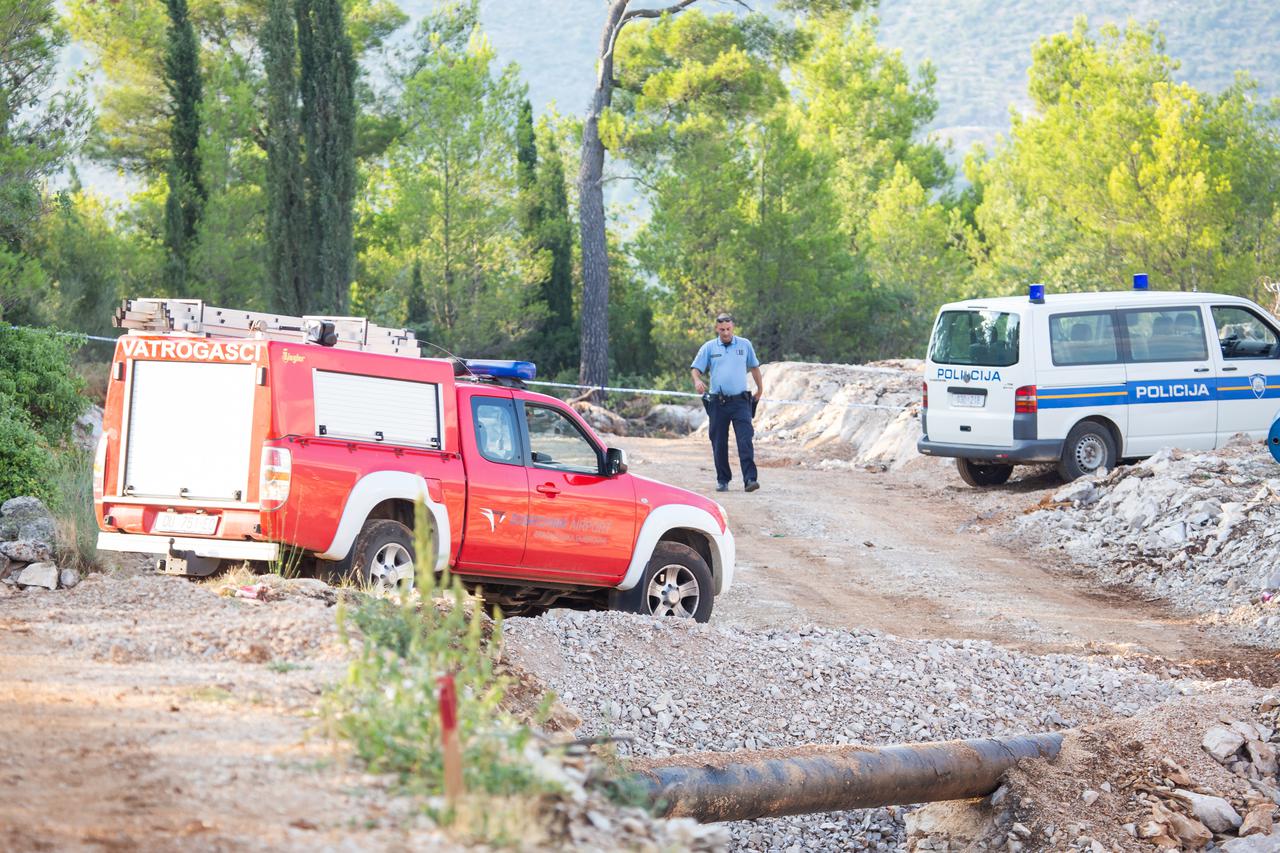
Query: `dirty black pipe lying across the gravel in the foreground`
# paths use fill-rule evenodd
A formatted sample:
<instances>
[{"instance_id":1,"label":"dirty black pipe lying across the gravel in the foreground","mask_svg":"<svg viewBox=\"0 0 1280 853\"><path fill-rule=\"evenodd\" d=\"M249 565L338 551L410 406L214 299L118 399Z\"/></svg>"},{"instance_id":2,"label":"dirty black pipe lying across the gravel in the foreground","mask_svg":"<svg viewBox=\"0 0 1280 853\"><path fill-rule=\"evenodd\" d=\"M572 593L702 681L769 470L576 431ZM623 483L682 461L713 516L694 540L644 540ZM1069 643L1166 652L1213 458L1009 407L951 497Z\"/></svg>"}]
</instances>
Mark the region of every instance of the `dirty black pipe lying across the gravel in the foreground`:
<instances>
[{"instance_id":1,"label":"dirty black pipe lying across the gravel in the foreground","mask_svg":"<svg viewBox=\"0 0 1280 853\"><path fill-rule=\"evenodd\" d=\"M1052 760L1061 745L1061 733L1051 733L879 748L803 747L767 757L704 753L666 760L635 779L660 816L709 824L986 797L1019 761Z\"/></svg>"}]
</instances>

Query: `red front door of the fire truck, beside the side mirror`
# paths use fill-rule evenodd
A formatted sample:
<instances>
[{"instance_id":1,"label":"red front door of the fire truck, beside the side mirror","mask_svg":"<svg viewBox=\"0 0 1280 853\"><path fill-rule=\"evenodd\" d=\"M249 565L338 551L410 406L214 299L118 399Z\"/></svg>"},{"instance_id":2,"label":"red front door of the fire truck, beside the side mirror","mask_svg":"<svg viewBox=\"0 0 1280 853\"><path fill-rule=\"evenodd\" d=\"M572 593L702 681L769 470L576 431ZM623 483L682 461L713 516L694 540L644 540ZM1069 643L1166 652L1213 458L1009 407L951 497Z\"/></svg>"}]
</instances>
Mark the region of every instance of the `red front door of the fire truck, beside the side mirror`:
<instances>
[{"instance_id":1,"label":"red front door of the fire truck, beside the side mirror","mask_svg":"<svg viewBox=\"0 0 1280 853\"><path fill-rule=\"evenodd\" d=\"M604 451L577 420L554 406L524 401L529 442L530 571L616 583L635 543L635 483L604 476Z\"/></svg>"}]
</instances>

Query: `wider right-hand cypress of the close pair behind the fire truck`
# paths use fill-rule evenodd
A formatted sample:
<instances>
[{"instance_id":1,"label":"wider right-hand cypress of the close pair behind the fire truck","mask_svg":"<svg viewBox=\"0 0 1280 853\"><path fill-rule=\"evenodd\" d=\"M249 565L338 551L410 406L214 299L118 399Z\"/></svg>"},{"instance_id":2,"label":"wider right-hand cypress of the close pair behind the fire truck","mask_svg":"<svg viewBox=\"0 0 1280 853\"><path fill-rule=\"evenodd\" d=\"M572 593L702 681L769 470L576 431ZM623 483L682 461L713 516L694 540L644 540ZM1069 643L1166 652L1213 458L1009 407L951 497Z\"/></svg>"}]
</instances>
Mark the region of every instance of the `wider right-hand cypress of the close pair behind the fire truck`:
<instances>
[{"instance_id":1,"label":"wider right-hand cypress of the close pair behind the fire truck","mask_svg":"<svg viewBox=\"0 0 1280 853\"><path fill-rule=\"evenodd\" d=\"M308 306L343 314L355 277L356 60L340 0L297 0Z\"/></svg>"}]
</instances>

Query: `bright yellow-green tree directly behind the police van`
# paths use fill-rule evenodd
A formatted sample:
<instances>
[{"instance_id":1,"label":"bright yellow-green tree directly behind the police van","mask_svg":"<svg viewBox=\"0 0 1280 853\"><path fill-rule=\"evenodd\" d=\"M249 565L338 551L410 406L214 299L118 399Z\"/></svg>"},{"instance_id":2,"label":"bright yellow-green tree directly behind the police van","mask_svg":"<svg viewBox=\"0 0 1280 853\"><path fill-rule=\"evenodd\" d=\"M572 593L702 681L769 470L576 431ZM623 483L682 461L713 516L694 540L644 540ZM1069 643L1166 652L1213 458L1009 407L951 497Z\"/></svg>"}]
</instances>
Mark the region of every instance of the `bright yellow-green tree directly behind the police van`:
<instances>
[{"instance_id":1,"label":"bright yellow-green tree directly behind the police van","mask_svg":"<svg viewBox=\"0 0 1280 853\"><path fill-rule=\"evenodd\" d=\"M1256 291L1280 237L1280 110L1247 79L1211 96L1176 69L1155 24L1094 35L1080 18L1037 44L1033 110L966 167L983 289L1094 289L1140 270L1156 287Z\"/></svg>"}]
</instances>

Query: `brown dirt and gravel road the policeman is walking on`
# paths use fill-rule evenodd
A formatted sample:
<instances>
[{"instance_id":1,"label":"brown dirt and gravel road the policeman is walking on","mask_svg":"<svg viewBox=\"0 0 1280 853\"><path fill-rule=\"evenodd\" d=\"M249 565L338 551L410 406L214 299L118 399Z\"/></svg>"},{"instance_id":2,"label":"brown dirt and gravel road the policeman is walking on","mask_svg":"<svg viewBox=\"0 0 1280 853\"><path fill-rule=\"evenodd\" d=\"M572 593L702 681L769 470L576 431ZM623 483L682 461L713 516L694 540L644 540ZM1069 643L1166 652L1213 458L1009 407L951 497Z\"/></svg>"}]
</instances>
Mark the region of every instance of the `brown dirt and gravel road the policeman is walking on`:
<instances>
[{"instance_id":1,"label":"brown dirt and gravel road the policeman is walking on","mask_svg":"<svg viewBox=\"0 0 1280 853\"><path fill-rule=\"evenodd\" d=\"M937 460L892 473L818 470L771 444L760 453L759 492L717 494L704 441L616 441L634 473L703 492L728 510L739 575L717 601L717 624L865 628L1276 672L1271 656L1224 646L1188 615L1089 585L1069 557L1006 540L1005 520L1061 489L1034 469L1019 469L1021 479L1004 489L977 492Z\"/></svg>"}]
</instances>

